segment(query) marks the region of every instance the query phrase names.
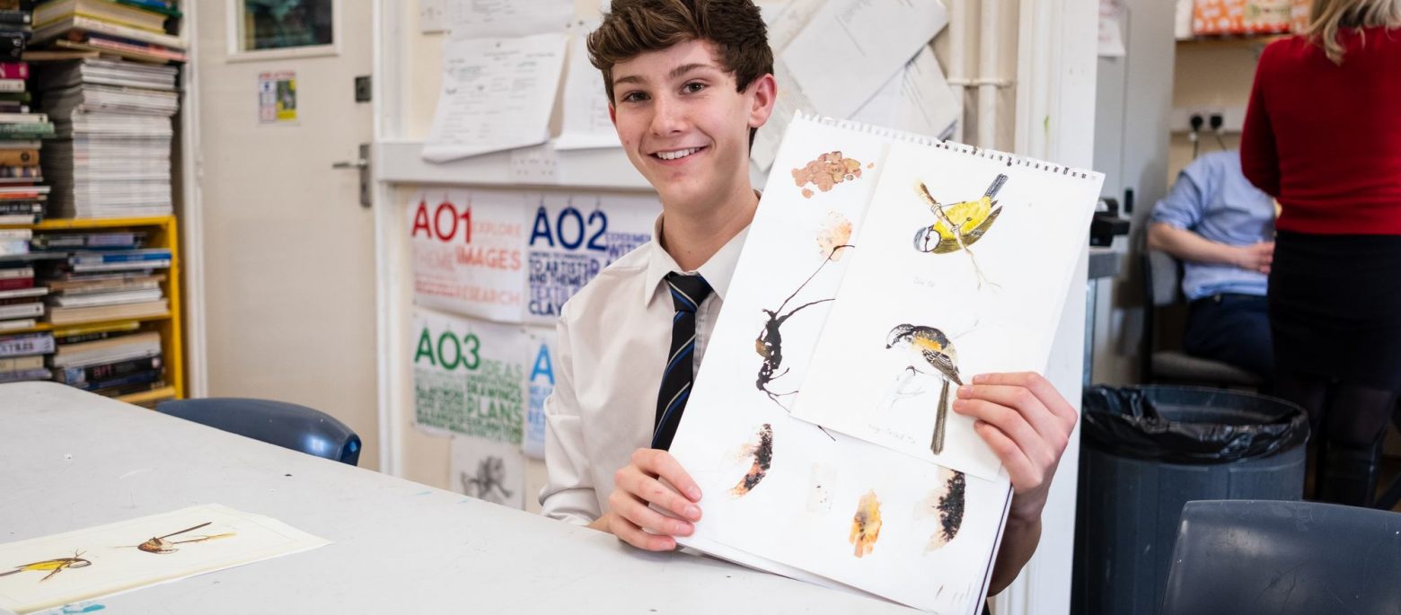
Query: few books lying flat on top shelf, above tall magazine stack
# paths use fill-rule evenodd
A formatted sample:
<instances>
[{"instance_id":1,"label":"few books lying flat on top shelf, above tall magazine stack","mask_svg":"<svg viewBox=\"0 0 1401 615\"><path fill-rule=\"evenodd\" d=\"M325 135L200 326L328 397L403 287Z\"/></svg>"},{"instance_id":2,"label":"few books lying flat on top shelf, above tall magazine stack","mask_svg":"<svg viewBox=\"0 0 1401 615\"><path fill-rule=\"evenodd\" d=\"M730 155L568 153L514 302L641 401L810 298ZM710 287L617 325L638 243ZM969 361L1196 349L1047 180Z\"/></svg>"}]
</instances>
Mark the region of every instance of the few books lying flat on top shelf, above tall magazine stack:
<instances>
[{"instance_id":1,"label":"few books lying flat on top shelf, above tall magazine stack","mask_svg":"<svg viewBox=\"0 0 1401 615\"><path fill-rule=\"evenodd\" d=\"M49 0L34 8L34 45L185 62L185 43L165 28L178 17L175 3L165 0Z\"/></svg>"}]
</instances>

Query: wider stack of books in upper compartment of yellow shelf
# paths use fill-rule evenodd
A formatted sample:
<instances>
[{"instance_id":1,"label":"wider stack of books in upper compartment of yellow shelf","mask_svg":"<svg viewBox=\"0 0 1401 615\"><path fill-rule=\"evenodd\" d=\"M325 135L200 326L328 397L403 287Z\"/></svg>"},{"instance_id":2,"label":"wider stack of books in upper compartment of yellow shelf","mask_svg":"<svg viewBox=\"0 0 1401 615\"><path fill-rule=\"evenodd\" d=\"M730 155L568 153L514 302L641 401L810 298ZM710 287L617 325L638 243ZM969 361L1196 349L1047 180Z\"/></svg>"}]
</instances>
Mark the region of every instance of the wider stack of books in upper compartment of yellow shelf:
<instances>
[{"instance_id":1,"label":"wider stack of books in upper compartment of yellow shelf","mask_svg":"<svg viewBox=\"0 0 1401 615\"><path fill-rule=\"evenodd\" d=\"M171 251L143 248L143 234L130 231L39 235L36 249L67 254L43 265L48 321L60 326L170 311L161 283L171 266Z\"/></svg>"}]
</instances>

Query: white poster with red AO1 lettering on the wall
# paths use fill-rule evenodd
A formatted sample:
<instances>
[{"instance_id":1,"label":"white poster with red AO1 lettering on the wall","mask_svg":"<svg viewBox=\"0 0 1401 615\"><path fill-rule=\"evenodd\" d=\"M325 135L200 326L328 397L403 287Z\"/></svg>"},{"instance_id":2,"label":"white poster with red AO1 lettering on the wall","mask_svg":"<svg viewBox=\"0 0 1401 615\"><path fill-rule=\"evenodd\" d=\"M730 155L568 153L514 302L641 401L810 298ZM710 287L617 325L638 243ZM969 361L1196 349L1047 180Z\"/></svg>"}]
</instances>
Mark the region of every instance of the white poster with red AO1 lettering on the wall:
<instances>
[{"instance_id":1,"label":"white poster with red AO1 lettering on the wall","mask_svg":"<svg viewBox=\"0 0 1401 615\"><path fill-rule=\"evenodd\" d=\"M405 206L413 304L497 322L525 310L530 202L517 192L427 189Z\"/></svg>"}]
</instances>

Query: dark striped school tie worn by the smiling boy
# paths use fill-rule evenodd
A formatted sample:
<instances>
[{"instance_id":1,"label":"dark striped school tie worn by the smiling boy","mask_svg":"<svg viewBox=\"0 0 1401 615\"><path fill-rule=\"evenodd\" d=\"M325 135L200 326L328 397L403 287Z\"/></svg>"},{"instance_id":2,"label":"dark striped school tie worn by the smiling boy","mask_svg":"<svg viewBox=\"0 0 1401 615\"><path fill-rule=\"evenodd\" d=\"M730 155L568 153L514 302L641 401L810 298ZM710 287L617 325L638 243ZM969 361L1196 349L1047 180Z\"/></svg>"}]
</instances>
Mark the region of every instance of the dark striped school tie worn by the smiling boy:
<instances>
[{"instance_id":1,"label":"dark striped school tie worn by the smiling boy","mask_svg":"<svg viewBox=\"0 0 1401 615\"><path fill-rule=\"evenodd\" d=\"M681 424L681 412L691 396L691 381L695 380L696 310L710 296L710 284L699 275L667 273L667 287L677 315L671 319L671 353L667 354L667 368L661 373L661 389L657 392L657 420L651 436L651 448L667 450Z\"/></svg>"}]
</instances>

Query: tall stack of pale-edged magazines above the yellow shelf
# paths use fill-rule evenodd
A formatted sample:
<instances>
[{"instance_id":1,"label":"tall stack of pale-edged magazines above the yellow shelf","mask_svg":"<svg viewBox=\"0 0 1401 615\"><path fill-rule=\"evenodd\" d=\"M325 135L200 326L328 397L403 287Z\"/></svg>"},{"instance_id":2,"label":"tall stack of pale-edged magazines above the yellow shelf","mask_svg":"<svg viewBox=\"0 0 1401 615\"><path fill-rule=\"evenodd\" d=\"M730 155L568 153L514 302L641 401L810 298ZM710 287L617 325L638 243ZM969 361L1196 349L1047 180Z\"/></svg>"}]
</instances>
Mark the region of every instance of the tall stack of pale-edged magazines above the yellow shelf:
<instances>
[{"instance_id":1,"label":"tall stack of pale-edged magazines above the yellow shelf","mask_svg":"<svg viewBox=\"0 0 1401 615\"><path fill-rule=\"evenodd\" d=\"M174 66L88 57L35 70L56 126L43 153L49 216L164 216L171 202Z\"/></svg>"}]
</instances>

